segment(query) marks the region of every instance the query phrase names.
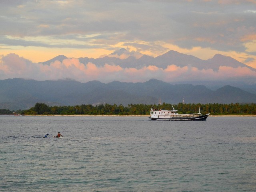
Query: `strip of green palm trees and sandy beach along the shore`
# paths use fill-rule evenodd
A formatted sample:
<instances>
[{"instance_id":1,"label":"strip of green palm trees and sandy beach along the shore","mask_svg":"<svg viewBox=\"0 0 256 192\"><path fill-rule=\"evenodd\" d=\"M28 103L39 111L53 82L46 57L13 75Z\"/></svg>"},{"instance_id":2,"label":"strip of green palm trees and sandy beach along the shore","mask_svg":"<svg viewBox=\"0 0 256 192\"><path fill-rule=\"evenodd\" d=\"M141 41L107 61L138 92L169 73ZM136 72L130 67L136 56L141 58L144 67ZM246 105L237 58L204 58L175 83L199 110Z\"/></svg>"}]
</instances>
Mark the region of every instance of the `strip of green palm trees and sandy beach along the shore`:
<instances>
[{"instance_id":1,"label":"strip of green palm trees and sandy beach along the shore","mask_svg":"<svg viewBox=\"0 0 256 192\"><path fill-rule=\"evenodd\" d=\"M150 115L150 108L172 110L172 104L82 104L76 106L48 106L45 103L36 103L28 110L10 111L0 109L0 115L19 114L19 115ZM211 115L256 115L256 103L251 104L173 104L179 114L198 113L199 108L202 114Z\"/></svg>"}]
</instances>

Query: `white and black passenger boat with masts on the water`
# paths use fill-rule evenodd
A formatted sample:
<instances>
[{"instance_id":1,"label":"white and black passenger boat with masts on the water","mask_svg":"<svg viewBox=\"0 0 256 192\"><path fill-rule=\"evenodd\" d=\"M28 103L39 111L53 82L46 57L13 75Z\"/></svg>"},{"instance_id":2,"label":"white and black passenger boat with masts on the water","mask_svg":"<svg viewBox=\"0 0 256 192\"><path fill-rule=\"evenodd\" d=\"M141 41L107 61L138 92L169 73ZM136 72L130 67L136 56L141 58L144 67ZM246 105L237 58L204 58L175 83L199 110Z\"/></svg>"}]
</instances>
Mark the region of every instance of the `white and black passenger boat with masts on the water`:
<instances>
[{"instance_id":1,"label":"white and black passenger boat with masts on the water","mask_svg":"<svg viewBox=\"0 0 256 192\"><path fill-rule=\"evenodd\" d=\"M202 115L200 113L193 114L178 114L178 110L175 110L172 106L173 110L154 110L150 109L150 118L151 120L168 120L168 121L204 121L210 115Z\"/></svg>"}]
</instances>

